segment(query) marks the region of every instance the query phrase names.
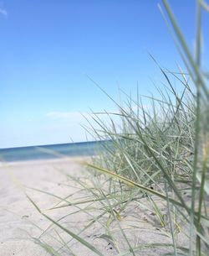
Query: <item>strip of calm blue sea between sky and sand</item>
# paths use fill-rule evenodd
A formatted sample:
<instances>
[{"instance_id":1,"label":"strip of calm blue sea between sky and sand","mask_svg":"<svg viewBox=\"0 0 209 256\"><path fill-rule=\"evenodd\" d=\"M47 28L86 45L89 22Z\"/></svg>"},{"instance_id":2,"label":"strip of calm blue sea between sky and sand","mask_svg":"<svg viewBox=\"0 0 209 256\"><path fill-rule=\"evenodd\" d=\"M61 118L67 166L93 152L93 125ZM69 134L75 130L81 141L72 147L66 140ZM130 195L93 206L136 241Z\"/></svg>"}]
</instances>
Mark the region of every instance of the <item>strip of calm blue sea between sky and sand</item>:
<instances>
[{"instance_id":1,"label":"strip of calm blue sea between sky and sand","mask_svg":"<svg viewBox=\"0 0 209 256\"><path fill-rule=\"evenodd\" d=\"M64 156L89 156L96 154L104 143L110 144L110 141L0 149L0 162L32 159L54 159Z\"/></svg>"}]
</instances>

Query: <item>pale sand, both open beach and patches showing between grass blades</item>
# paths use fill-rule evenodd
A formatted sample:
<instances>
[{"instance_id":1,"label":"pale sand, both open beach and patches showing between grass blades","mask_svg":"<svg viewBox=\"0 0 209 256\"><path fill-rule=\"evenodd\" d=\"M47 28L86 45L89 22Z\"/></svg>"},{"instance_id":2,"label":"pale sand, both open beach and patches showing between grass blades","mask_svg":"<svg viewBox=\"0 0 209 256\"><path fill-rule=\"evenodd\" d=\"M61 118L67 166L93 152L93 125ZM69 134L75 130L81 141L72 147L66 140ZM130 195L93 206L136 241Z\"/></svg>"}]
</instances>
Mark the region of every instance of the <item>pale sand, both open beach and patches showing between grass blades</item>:
<instances>
[{"instance_id":1,"label":"pale sand, both open beach and patches showing between grass blades","mask_svg":"<svg viewBox=\"0 0 209 256\"><path fill-rule=\"evenodd\" d=\"M77 189L74 187L72 181L72 186L64 185L66 184L66 176L62 175L59 170L64 170L70 175L80 175L82 172L81 166L79 165L80 160L81 159L78 158L72 158L8 164L2 163L0 166L0 256L49 255L40 245L34 243L33 240L33 238L38 238L43 230L48 227L49 222L35 209L33 204L28 201L24 191L27 191L28 195L33 198L33 201L35 201L42 210L46 210L45 213L54 219L68 214L72 211L71 208L73 207L62 208L59 209L59 211L48 211L48 208L59 202L58 198L26 189L21 185L23 184L47 191L48 193L54 193L61 197L68 196L77 191ZM135 239L135 244L171 243L171 238L162 237L157 228L150 227L150 224L148 224L146 220L146 213L135 212L134 208L130 208L130 214L128 215L127 213L127 216L127 218L132 221L133 225L141 225L142 227L141 230L138 228L137 232L135 232L133 228L127 231L127 236L130 237L130 239ZM82 229L82 227L84 227L86 218L88 218L88 216L86 217L86 215L82 213L74 214L69 217L67 224L73 232L78 232L79 228ZM121 223L121 225L125 227L126 222ZM151 231L146 231L146 227L150 228ZM62 238L69 239L64 232L60 230L59 232ZM117 253L111 243L108 243L105 239L95 237L100 234L102 234L101 228L92 226L88 232L85 233L84 238L89 241L89 243L99 248L105 256L116 255ZM57 246L54 239L50 238L51 235L54 235L53 229L46 232L46 236L43 236L44 241ZM121 243L125 242L121 240ZM70 248L79 256L95 255L89 251L88 248L76 242L70 243ZM161 253L161 250L159 251L152 248L149 252L141 252L137 255L162 255ZM70 254L63 252L62 255Z\"/></svg>"}]
</instances>

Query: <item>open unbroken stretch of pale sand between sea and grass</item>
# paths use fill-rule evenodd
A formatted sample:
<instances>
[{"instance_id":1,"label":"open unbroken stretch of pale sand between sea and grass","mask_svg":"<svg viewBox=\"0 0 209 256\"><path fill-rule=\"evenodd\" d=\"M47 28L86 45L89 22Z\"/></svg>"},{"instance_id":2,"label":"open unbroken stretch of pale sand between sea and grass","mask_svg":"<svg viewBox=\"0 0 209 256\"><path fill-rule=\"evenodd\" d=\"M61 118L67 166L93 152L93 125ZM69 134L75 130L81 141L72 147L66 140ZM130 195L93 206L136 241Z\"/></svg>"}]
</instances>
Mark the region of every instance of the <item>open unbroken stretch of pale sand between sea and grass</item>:
<instances>
[{"instance_id":1,"label":"open unbroken stretch of pale sand between sea and grass","mask_svg":"<svg viewBox=\"0 0 209 256\"><path fill-rule=\"evenodd\" d=\"M53 206L58 199L27 189L22 185L54 192L59 196L67 196L70 188L66 190L66 187L64 188L61 184L66 177L60 175L59 170L78 175L80 170L80 166L76 163L78 160L78 158L72 158L1 163L1 256L46 255L46 251L34 243L32 238L38 237L42 232L38 227L47 227L48 221L36 211L24 192L27 191L28 195L43 209ZM74 191L74 189L71 190Z\"/></svg>"}]
</instances>

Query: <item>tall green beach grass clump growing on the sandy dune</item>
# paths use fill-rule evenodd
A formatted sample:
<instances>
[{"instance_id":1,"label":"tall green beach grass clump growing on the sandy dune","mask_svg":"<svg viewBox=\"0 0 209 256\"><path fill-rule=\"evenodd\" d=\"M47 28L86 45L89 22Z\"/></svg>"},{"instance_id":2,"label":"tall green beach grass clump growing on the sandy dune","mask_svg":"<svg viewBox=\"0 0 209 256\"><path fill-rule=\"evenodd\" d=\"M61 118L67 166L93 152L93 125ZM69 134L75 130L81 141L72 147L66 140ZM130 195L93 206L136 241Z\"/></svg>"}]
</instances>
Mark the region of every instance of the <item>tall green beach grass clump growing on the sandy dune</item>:
<instances>
[{"instance_id":1,"label":"tall green beach grass clump growing on the sandy dune","mask_svg":"<svg viewBox=\"0 0 209 256\"><path fill-rule=\"evenodd\" d=\"M205 3L196 1L195 55L168 2L162 3L161 13L186 72L181 67L176 72L161 68L151 56L166 81L163 88L158 88L157 97L146 97L143 104L137 91L136 97L126 95L122 104L104 92L118 111L92 113L88 121L89 133L107 143L84 163L89 170L86 176L68 175L85 196L77 201L59 198L60 204L50 209L64 208L68 212L69 207L75 207L74 214L88 216L89 222L74 232L64 224L67 213L54 220L28 197L38 212L70 237L64 240L57 232L60 247L55 249L43 243L40 236L40 245L52 255L64 255L61 248L69 255L77 255L69 245L74 240L89 252L109 255L96 247L94 239L108 242L113 255L118 256L153 255L150 252L154 248L155 255L208 255L209 90L206 73L201 69L201 12ZM173 81L181 88L176 89ZM104 121L104 115L109 122ZM146 234L157 232L160 240L137 240L142 230ZM86 235L89 232L93 234Z\"/></svg>"}]
</instances>

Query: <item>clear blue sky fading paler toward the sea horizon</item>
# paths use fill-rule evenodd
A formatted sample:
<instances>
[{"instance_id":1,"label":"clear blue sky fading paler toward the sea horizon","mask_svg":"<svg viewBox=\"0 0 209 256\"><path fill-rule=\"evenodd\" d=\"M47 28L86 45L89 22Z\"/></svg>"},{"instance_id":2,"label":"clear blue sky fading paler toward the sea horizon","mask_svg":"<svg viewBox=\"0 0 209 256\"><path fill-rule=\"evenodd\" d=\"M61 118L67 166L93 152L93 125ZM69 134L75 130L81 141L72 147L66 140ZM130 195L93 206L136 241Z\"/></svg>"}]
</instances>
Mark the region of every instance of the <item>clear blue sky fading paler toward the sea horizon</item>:
<instances>
[{"instance_id":1,"label":"clear blue sky fading paler toward the sea horizon","mask_svg":"<svg viewBox=\"0 0 209 256\"><path fill-rule=\"evenodd\" d=\"M153 90L148 55L181 63L155 0L0 1L0 148L85 140L79 112L113 109L118 86ZM195 1L171 0L192 46Z\"/></svg>"}]
</instances>

